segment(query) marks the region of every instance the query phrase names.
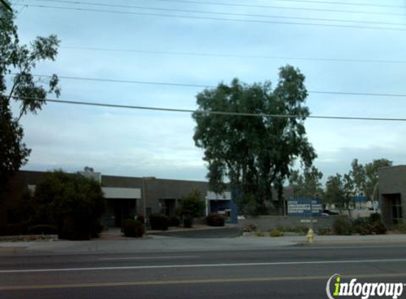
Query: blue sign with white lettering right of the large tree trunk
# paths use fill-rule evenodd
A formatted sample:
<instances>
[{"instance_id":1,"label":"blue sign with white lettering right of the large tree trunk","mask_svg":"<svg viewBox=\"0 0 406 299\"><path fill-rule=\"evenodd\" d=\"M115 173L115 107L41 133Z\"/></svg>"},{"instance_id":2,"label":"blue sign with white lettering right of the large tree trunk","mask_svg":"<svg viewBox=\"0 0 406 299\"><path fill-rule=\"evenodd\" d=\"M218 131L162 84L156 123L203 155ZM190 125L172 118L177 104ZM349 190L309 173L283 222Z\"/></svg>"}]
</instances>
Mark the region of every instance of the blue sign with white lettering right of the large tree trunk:
<instances>
[{"instance_id":1,"label":"blue sign with white lettering right of the large tree trunk","mask_svg":"<svg viewBox=\"0 0 406 299\"><path fill-rule=\"evenodd\" d=\"M317 217L322 214L321 199L289 198L288 216L291 217ZM312 210L312 212L311 212Z\"/></svg>"}]
</instances>

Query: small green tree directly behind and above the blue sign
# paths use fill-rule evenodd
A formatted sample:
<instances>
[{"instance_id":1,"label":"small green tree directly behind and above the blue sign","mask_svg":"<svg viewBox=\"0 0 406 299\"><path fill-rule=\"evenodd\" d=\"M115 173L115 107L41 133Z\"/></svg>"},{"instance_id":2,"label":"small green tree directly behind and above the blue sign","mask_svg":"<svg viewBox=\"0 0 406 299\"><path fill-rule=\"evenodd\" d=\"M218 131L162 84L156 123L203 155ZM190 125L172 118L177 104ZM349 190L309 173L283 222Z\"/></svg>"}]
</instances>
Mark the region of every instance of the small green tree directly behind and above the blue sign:
<instances>
[{"instance_id":1,"label":"small green tree directly behind and above the blue sign","mask_svg":"<svg viewBox=\"0 0 406 299\"><path fill-rule=\"evenodd\" d=\"M317 198L324 193L321 179L323 174L315 166L305 167L303 174L298 170L292 171L289 183L293 187L293 196L303 198Z\"/></svg>"}]
</instances>

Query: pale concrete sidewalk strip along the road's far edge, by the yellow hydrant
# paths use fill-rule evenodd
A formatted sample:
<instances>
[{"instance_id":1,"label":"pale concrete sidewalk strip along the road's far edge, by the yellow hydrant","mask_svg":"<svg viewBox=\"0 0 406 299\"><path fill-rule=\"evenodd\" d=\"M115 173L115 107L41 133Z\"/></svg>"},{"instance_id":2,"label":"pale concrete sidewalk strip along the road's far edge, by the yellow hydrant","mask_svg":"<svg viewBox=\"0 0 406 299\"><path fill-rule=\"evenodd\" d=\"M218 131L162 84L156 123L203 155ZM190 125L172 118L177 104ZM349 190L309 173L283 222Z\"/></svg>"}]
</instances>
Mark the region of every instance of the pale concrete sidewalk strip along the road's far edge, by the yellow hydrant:
<instances>
[{"instance_id":1,"label":"pale concrete sidewalk strip along the road's far edge, by the yellow hydrant","mask_svg":"<svg viewBox=\"0 0 406 299\"><path fill-rule=\"evenodd\" d=\"M148 235L142 239L94 239L91 241L0 242L0 254L86 254L119 252L199 252L222 250L260 250L281 247L368 246L406 244L406 235L316 236L308 244L305 236L179 238Z\"/></svg>"}]
</instances>

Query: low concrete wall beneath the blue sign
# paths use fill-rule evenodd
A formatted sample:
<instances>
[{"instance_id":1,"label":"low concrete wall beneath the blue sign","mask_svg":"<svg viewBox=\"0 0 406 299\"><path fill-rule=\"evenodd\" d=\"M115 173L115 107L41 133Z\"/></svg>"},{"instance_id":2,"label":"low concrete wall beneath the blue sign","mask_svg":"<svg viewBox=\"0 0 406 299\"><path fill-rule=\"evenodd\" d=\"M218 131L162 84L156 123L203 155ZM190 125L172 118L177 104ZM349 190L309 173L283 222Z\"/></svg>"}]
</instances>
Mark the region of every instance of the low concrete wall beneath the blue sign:
<instances>
[{"instance_id":1,"label":"low concrete wall beneath the blue sign","mask_svg":"<svg viewBox=\"0 0 406 299\"><path fill-rule=\"evenodd\" d=\"M332 225L337 218L342 218L346 216L322 216L313 218L313 227L318 228L332 228ZM239 219L238 226L240 228L246 225L254 224L258 230L266 231L271 228L276 227L309 227L309 218L295 218L288 216L258 216L258 217L247 217L246 219Z\"/></svg>"}]
</instances>

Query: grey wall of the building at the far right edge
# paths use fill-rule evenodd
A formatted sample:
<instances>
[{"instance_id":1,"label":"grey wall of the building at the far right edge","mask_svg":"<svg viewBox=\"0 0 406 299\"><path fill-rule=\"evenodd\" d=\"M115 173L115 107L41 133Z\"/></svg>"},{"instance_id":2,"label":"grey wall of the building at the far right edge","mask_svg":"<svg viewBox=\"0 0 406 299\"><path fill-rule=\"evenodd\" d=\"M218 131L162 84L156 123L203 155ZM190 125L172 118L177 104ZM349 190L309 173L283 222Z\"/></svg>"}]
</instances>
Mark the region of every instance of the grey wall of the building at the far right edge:
<instances>
[{"instance_id":1,"label":"grey wall of the building at the far right edge","mask_svg":"<svg viewBox=\"0 0 406 299\"><path fill-rule=\"evenodd\" d=\"M406 165L378 169L380 212L386 226L392 227L391 198L400 195L402 217L406 219Z\"/></svg>"}]
</instances>

